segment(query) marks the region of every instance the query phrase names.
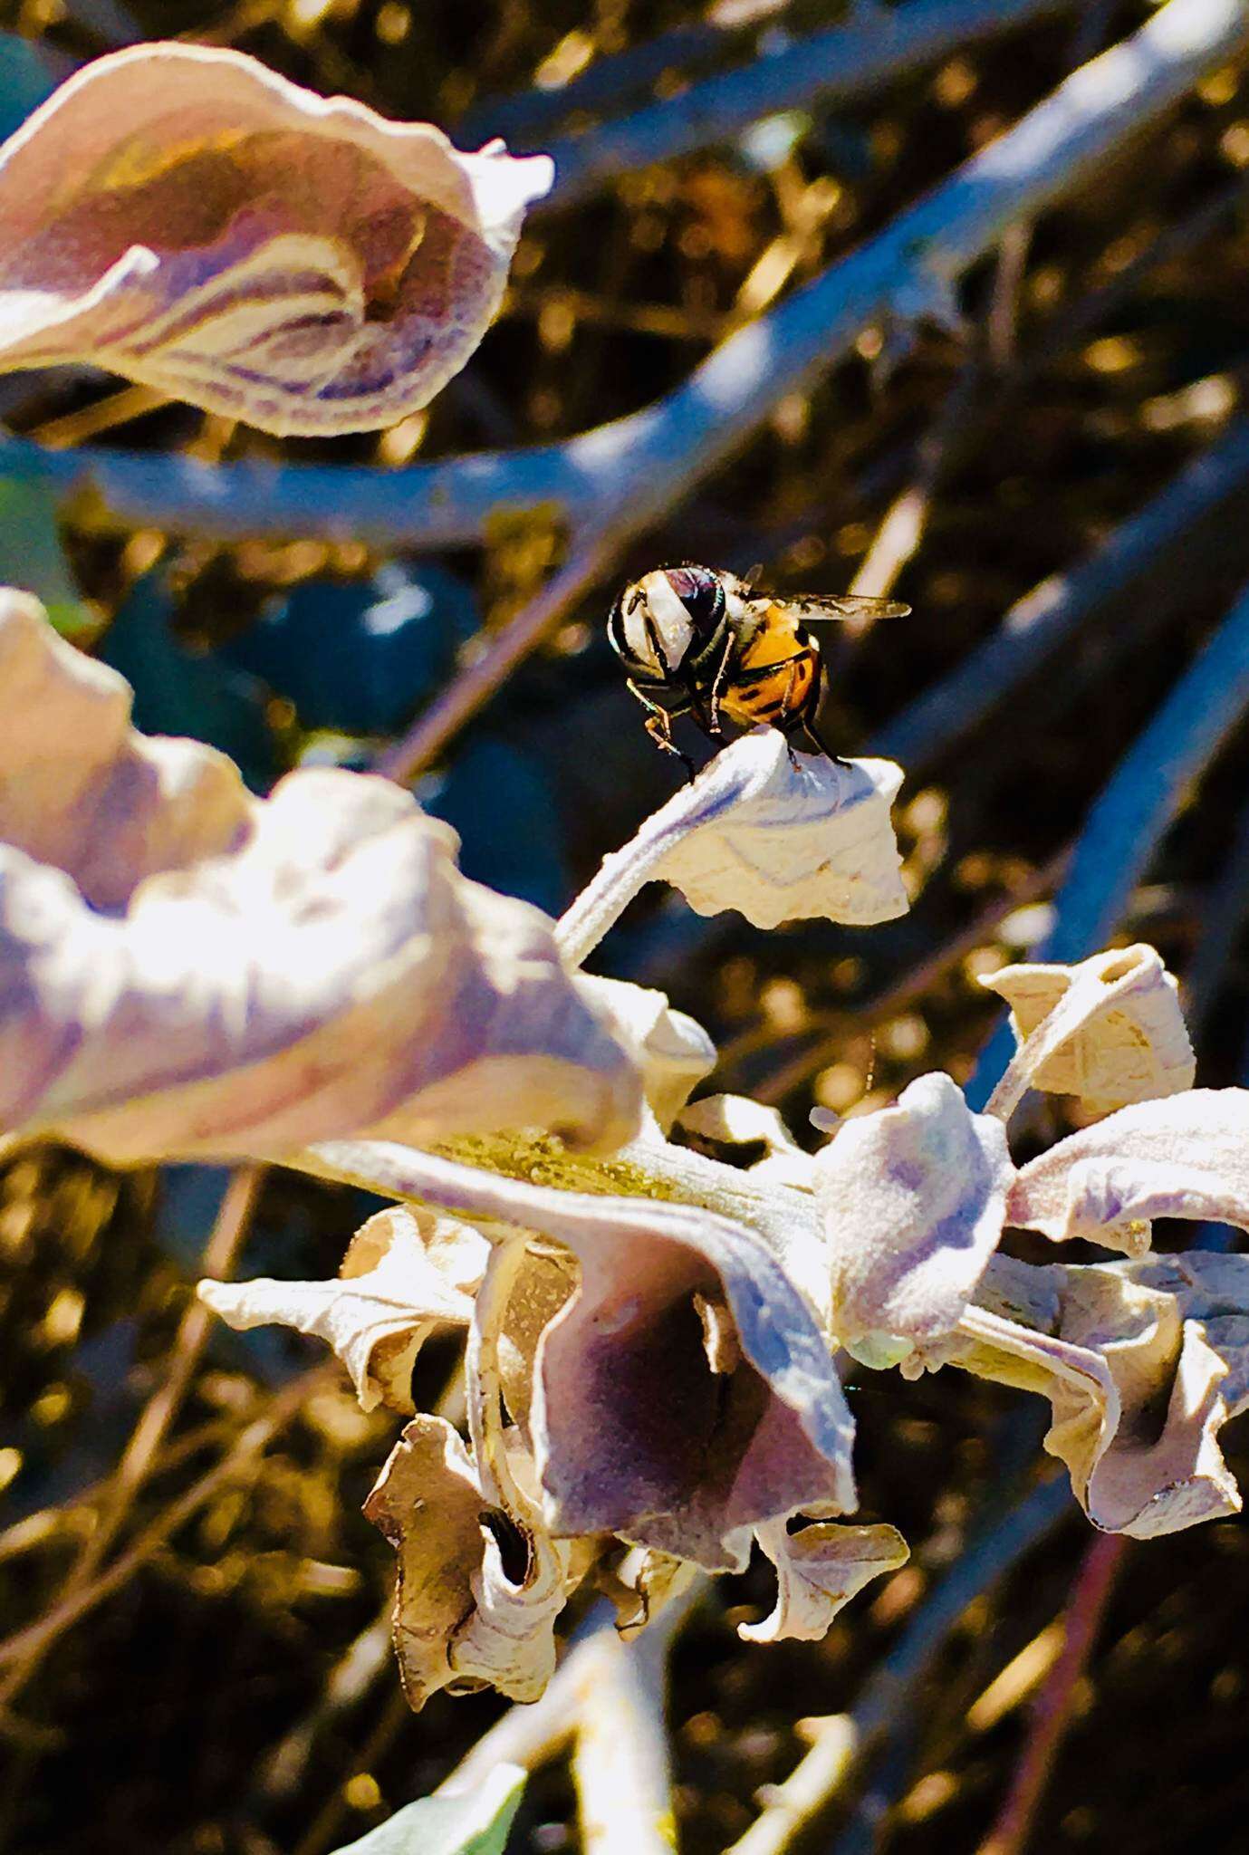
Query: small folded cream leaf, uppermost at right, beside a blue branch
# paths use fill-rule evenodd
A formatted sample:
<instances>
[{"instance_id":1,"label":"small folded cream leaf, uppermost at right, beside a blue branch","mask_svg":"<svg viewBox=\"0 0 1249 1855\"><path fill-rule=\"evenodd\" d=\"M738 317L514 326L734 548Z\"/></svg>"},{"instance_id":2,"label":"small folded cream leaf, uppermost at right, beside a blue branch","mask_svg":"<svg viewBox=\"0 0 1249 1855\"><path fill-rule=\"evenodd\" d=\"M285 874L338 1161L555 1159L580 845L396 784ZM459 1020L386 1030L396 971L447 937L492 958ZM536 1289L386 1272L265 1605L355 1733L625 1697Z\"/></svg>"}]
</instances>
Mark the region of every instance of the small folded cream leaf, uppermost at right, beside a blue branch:
<instances>
[{"instance_id":1,"label":"small folded cream leaf, uppermost at right, beside a blue branch","mask_svg":"<svg viewBox=\"0 0 1249 1855\"><path fill-rule=\"evenodd\" d=\"M1021 1044L1063 1005L1049 1052L1034 1046L1034 1089L1078 1094L1101 1115L1193 1085L1197 1063L1178 987L1152 946L1095 953L1076 966L1004 966L980 983L1011 1007Z\"/></svg>"}]
</instances>

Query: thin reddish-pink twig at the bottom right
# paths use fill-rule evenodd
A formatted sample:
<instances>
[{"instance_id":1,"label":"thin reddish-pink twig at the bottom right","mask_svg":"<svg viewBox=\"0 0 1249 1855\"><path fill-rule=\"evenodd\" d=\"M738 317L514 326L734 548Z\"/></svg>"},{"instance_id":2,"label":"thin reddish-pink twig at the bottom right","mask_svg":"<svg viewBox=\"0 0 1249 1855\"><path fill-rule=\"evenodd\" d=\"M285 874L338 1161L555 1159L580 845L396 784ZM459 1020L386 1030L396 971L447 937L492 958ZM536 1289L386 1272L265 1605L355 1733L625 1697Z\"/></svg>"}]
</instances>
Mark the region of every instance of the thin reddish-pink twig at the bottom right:
<instances>
[{"instance_id":1,"label":"thin reddish-pink twig at the bottom right","mask_svg":"<svg viewBox=\"0 0 1249 1855\"><path fill-rule=\"evenodd\" d=\"M978 1855L1023 1855L1049 1775L1071 1725L1076 1688L1127 1551L1123 1534L1101 1534L1088 1547L1071 1586L1063 1647L1037 1695L1028 1738L1006 1801Z\"/></svg>"}]
</instances>

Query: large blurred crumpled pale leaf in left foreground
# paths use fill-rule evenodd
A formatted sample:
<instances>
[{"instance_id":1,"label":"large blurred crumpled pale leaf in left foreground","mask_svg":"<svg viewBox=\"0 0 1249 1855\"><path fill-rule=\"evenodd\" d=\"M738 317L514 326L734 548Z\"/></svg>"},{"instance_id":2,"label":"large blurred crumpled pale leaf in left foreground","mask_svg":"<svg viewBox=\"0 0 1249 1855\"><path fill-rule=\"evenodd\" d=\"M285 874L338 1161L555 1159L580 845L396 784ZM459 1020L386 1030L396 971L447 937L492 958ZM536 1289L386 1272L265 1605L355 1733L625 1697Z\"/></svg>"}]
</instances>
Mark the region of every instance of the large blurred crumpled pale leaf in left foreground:
<instances>
[{"instance_id":1,"label":"large blurred crumpled pale leaf in left foreground","mask_svg":"<svg viewBox=\"0 0 1249 1855\"><path fill-rule=\"evenodd\" d=\"M256 801L128 709L0 594L0 1132L113 1163L366 1128L629 1137L635 1061L549 922L466 881L410 794L308 770Z\"/></svg>"}]
</instances>

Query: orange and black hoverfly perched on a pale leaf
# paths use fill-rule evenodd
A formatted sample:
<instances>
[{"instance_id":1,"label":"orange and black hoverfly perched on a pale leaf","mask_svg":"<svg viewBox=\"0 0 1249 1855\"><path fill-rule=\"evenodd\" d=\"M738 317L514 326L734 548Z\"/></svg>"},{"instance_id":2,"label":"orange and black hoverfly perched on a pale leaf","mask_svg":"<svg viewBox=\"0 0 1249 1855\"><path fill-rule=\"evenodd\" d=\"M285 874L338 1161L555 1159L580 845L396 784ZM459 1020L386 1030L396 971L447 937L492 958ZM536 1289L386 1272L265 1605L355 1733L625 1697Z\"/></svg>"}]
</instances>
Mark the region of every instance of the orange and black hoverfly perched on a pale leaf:
<instances>
[{"instance_id":1,"label":"orange and black hoverfly perched on a pale leaf","mask_svg":"<svg viewBox=\"0 0 1249 1855\"><path fill-rule=\"evenodd\" d=\"M739 727L766 722L787 738L805 733L828 755L815 729L820 647L807 625L904 618L909 610L896 599L854 594L772 597L753 592L753 575L739 579L687 562L655 568L625 586L607 618L607 638L646 709L648 735L692 777L694 762L672 740L679 714L690 714L711 740L724 740L724 720Z\"/></svg>"}]
</instances>

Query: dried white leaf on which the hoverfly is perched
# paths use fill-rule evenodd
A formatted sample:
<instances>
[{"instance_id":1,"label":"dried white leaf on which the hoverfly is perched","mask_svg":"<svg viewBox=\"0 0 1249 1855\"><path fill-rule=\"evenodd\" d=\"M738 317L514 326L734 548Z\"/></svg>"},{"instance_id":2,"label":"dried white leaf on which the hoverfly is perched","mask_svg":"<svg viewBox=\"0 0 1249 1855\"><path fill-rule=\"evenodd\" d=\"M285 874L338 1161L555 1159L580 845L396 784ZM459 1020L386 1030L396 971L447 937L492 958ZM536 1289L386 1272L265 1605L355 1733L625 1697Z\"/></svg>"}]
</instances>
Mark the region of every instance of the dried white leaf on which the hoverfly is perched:
<instances>
[{"instance_id":1,"label":"dried white leaf on which the hoverfly is perched","mask_svg":"<svg viewBox=\"0 0 1249 1855\"><path fill-rule=\"evenodd\" d=\"M906 915L889 820L900 785L893 761L792 753L774 727L744 735L603 861L559 924L566 959L581 963L650 881L672 883L700 915L739 909L755 928Z\"/></svg>"}]
</instances>

